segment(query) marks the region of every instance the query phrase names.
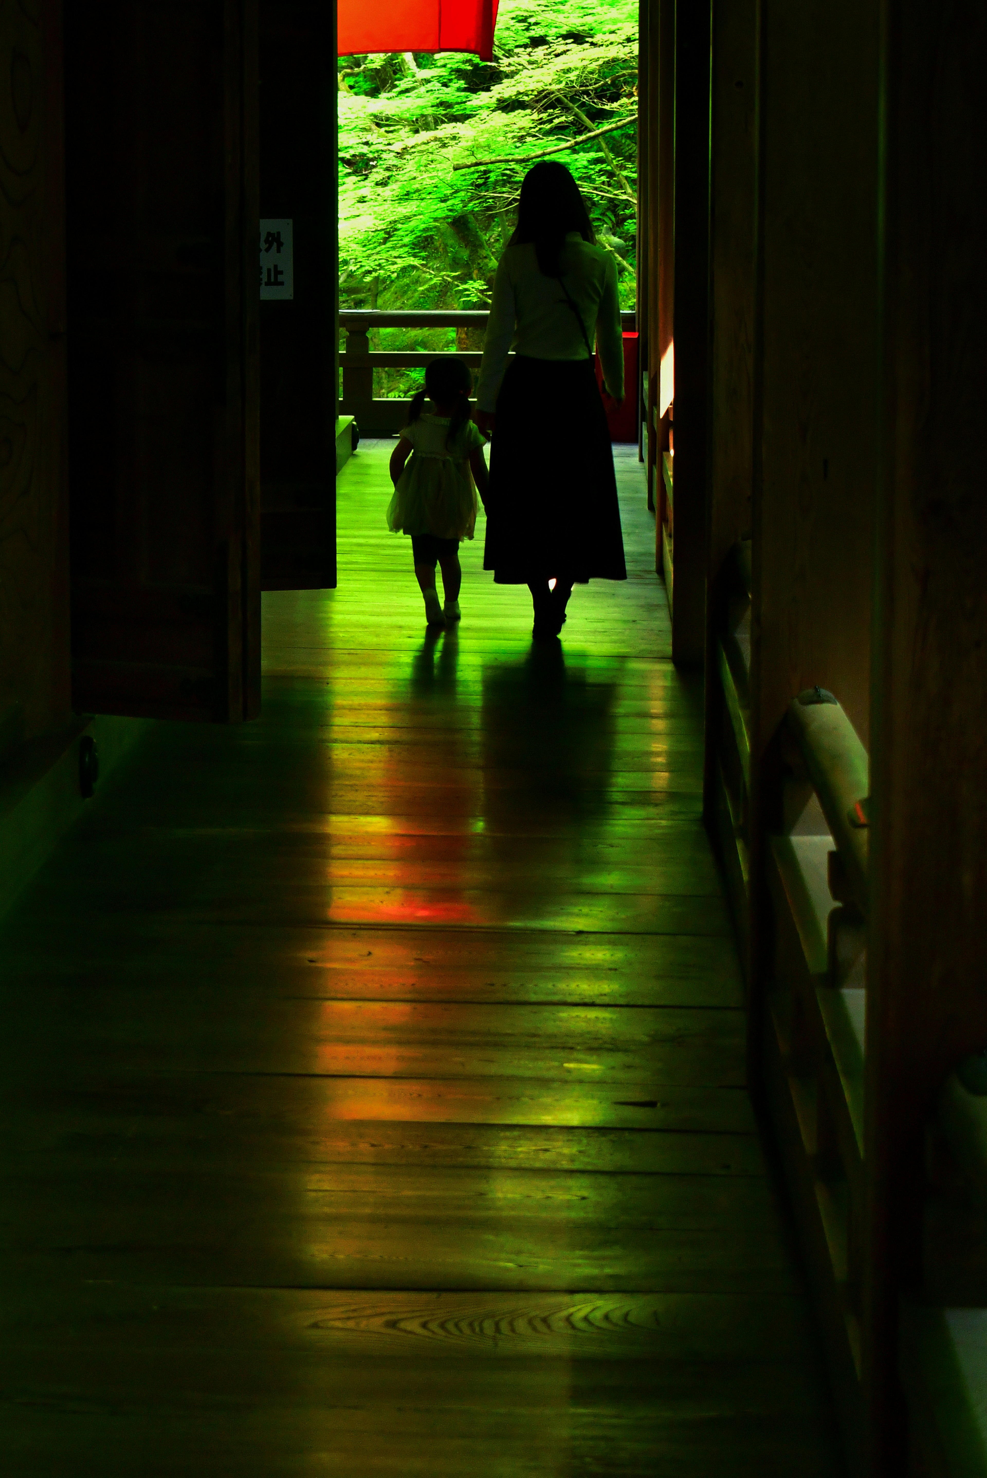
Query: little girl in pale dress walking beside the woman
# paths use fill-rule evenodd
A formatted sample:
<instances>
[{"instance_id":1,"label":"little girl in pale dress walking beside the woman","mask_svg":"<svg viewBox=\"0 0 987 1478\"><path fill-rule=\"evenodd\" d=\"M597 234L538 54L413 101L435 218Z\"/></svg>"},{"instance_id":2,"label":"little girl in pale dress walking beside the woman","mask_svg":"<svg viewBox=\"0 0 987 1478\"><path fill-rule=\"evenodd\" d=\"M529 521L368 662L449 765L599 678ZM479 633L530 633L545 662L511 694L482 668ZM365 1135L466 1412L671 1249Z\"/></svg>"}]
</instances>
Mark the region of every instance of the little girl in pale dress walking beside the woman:
<instances>
[{"instance_id":1,"label":"little girl in pale dress walking beside the woman","mask_svg":"<svg viewBox=\"0 0 987 1478\"><path fill-rule=\"evenodd\" d=\"M470 389L471 375L461 359L433 359L426 370L426 387L411 402L408 426L390 458L395 497L387 508L387 528L411 535L430 627L460 619L460 539L473 538L477 488L486 503L482 451L486 437L470 420ZM423 409L426 399L431 401L428 412ZM442 568L445 609L436 593L436 560Z\"/></svg>"}]
</instances>

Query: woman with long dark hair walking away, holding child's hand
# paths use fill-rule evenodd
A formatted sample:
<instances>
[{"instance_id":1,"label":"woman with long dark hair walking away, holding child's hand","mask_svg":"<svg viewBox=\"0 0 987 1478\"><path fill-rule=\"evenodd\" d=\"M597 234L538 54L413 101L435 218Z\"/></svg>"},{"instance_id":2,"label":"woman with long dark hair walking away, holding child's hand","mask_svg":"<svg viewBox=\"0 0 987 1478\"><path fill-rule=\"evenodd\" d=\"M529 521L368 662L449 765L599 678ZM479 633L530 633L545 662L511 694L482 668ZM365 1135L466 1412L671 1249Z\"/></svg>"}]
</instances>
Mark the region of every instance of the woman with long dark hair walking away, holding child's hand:
<instances>
[{"instance_id":1,"label":"woman with long dark hair walking away, holding child's hand","mask_svg":"<svg viewBox=\"0 0 987 1478\"><path fill-rule=\"evenodd\" d=\"M535 640L559 636L573 582L626 579L594 331L622 401L616 269L569 170L544 161L525 176L496 269L476 414L494 433L483 568L530 588Z\"/></svg>"}]
</instances>

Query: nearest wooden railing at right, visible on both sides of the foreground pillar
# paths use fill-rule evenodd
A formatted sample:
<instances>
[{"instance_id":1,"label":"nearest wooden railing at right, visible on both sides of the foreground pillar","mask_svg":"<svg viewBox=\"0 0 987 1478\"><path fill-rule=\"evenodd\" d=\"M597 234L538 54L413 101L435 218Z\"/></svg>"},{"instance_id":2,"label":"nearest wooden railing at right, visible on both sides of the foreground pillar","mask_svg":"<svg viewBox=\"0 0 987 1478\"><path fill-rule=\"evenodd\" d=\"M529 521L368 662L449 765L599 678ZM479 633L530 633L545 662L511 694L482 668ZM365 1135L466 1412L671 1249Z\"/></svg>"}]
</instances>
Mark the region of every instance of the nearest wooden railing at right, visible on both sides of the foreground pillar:
<instances>
[{"instance_id":1,"label":"nearest wooden railing at right, visible on both sides of the foreground pillar","mask_svg":"<svg viewBox=\"0 0 987 1478\"><path fill-rule=\"evenodd\" d=\"M790 704L780 740L767 1080L839 1410L858 1437L869 760L822 689ZM923 1151L921 1283L901 1299L898 1364L922 1453L915 1471L960 1478L987 1472L987 1051L947 1076Z\"/></svg>"}]
</instances>

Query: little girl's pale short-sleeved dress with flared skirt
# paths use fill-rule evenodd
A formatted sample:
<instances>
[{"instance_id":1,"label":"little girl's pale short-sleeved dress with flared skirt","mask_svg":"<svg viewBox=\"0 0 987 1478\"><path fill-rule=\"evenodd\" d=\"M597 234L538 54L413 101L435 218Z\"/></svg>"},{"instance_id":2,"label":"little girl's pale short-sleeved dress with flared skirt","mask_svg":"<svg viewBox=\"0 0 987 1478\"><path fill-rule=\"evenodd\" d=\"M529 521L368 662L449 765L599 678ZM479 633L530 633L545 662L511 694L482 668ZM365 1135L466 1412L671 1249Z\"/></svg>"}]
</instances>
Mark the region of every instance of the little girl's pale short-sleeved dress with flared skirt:
<instances>
[{"instance_id":1,"label":"little girl's pale short-sleeved dress with flared skirt","mask_svg":"<svg viewBox=\"0 0 987 1478\"><path fill-rule=\"evenodd\" d=\"M423 414L400 435L414 451L387 507L387 528L395 534L471 539L477 503L468 457L483 445L480 429L467 421L446 446L449 417Z\"/></svg>"}]
</instances>

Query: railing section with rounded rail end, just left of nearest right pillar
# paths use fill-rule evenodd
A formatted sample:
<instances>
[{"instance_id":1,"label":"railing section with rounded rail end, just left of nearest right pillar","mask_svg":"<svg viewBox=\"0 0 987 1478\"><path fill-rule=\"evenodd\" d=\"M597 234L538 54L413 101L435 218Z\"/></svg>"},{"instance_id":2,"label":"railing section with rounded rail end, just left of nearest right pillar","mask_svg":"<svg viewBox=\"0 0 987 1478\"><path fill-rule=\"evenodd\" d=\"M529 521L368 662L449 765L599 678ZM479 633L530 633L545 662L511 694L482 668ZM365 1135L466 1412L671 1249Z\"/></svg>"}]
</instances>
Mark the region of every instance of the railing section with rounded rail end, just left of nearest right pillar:
<instances>
[{"instance_id":1,"label":"railing section with rounded rail end, just left of nearest right pillar","mask_svg":"<svg viewBox=\"0 0 987 1478\"><path fill-rule=\"evenodd\" d=\"M790 704L779 740L765 1076L839 1410L858 1437L869 763L819 687Z\"/></svg>"}]
</instances>

